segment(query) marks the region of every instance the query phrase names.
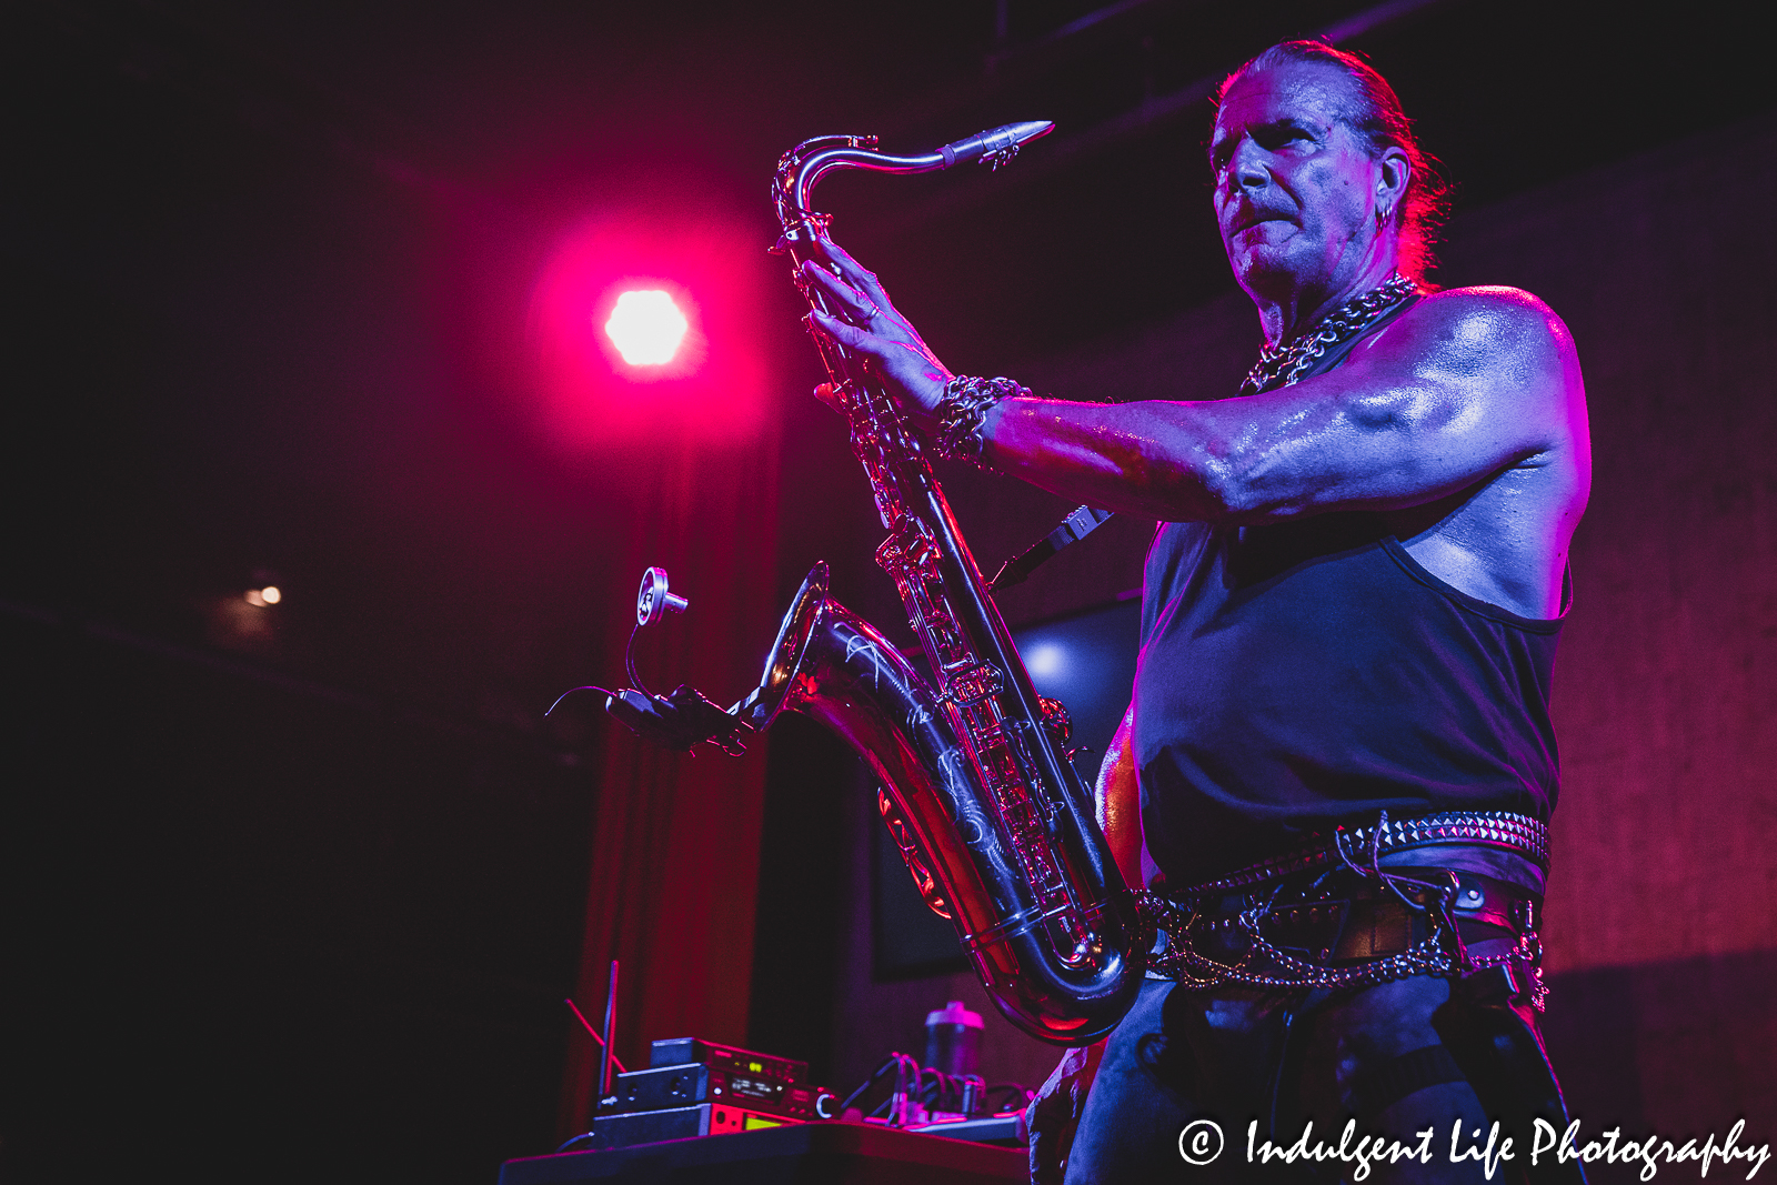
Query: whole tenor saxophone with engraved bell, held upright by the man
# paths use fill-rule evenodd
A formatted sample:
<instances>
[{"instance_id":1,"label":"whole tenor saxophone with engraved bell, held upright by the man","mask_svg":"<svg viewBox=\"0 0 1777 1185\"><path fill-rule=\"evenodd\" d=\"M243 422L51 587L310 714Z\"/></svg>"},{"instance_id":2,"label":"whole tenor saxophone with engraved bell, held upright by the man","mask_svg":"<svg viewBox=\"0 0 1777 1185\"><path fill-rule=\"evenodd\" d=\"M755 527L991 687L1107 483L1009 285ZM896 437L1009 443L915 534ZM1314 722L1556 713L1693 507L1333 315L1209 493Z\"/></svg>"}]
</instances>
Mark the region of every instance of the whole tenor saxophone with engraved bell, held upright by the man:
<instances>
[{"instance_id":1,"label":"whole tenor saxophone with engraved bell, held upright by the man","mask_svg":"<svg viewBox=\"0 0 1777 1185\"><path fill-rule=\"evenodd\" d=\"M929 172L999 167L1048 131L1018 123L924 156L888 156L874 137L821 137L778 162L773 183L798 288L830 215L810 206L837 169ZM1088 1045L1141 988L1151 931L1066 757L1068 721L1038 696L963 542L926 446L896 402L844 346L819 341L832 402L849 421L888 538L876 551L933 673L928 682L883 636L828 597L816 565L791 604L764 679L730 714L762 728L798 711L842 736L883 783L878 807L920 895L956 926L1000 1013L1034 1038Z\"/></svg>"}]
</instances>

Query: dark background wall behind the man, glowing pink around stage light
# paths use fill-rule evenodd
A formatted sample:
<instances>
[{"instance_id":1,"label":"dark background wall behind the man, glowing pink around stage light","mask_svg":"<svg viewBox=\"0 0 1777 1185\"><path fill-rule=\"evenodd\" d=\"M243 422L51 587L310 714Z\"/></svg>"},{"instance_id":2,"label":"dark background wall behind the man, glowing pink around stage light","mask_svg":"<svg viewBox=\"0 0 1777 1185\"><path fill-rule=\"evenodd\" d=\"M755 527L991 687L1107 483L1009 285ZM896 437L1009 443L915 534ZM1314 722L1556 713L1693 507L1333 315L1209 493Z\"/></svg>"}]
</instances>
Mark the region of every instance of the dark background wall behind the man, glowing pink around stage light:
<instances>
[{"instance_id":1,"label":"dark background wall behind the man, glowing pink around stage light","mask_svg":"<svg viewBox=\"0 0 1777 1185\"><path fill-rule=\"evenodd\" d=\"M1773 913L1761 41L1750 16L1388 11L1347 43L1461 185L1445 281L1550 298L1592 384L1598 489L1557 693L1551 1041L1612 1121L1777 1123L1757 990ZM689 574L737 540L762 549L775 576L727 609L725 590L688 588L732 615L723 654L764 647L759 606L817 558L901 634L862 474L803 396L814 357L768 268L741 300L769 428L745 480L700 474L727 481L713 545L697 526L649 537L672 521L666 449L551 435L531 297L574 227L647 210L732 227L752 252L775 235L764 179L805 135L919 147L1054 117L992 178L832 181L841 240L958 370L1063 393L1166 394L1180 366L1230 382L1256 330L1208 220L1196 84L1363 12L9 12L5 1180L487 1181L553 1146L585 1050L560 998L586 915L622 904L586 899L592 819L615 796L592 771L620 741L579 707L542 711L618 679L638 558L684 554ZM1066 508L974 474L952 499L990 563ZM1127 592L1143 542L1107 526L1008 615ZM286 600L247 606L267 579ZM650 679L695 670L698 636L645 652ZM983 1002L968 981L869 982L867 787L814 730L768 748L748 759L768 764L757 849L736 856L755 883L673 885L757 894L752 958L695 984L732 993L734 1032L704 1036L846 1086L917 1046L926 1009ZM631 1050L682 1036L631 1029ZM1048 1057L990 1048L995 1075L1025 1080Z\"/></svg>"}]
</instances>

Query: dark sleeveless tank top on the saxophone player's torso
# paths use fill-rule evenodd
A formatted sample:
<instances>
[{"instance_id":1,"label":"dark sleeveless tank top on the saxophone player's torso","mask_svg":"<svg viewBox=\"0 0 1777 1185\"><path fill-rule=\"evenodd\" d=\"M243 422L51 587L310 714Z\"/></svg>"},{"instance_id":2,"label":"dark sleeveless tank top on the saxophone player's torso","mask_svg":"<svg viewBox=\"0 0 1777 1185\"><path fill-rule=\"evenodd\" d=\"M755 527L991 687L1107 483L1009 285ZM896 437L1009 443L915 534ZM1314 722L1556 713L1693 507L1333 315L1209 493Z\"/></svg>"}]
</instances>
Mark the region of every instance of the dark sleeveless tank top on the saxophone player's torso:
<instances>
[{"instance_id":1,"label":"dark sleeveless tank top on the saxophone player's torso","mask_svg":"<svg viewBox=\"0 0 1777 1185\"><path fill-rule=\"evenodd\" d=\"M1375 513L1160 524L1136 670L1150 855L1176 887L1379 810L1546 821L1558 631L1443 583Z\"/></svg>"}]
</instances>

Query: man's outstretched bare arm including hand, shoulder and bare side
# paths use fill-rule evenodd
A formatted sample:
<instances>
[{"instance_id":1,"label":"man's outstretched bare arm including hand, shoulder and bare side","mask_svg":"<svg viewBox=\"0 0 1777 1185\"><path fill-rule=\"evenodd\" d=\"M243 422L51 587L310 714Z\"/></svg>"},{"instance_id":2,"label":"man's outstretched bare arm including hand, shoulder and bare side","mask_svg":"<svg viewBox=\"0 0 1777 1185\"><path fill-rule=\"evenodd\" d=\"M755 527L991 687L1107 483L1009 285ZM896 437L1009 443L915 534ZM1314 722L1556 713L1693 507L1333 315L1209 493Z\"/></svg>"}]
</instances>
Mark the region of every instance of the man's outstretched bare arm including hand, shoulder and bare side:
<instances>
[{"instance_id":1,"label":"man's outstretched bare arm including hand, shoulder and bare side","mask_svg":"<svg viewBox=\"0 0 1777 1185\"><path fill-rule=\"evenodd\" d=\"M860 354L931 426L951 373L876 277L828 243L812 282L853 322L817 332ZM1178 375L1180 394L1192 377ZM1219 394L1207 391L1203 394ZM1560 611L1567 540L1585 510L1585 386L1567 329L1512 288L1436 293L1343 366L1224 400L1006 400L986 460L1043 489L1167 522L1398 513L1402 545L1459 590L1526 616Z\"/></svg>"}]
</instances>

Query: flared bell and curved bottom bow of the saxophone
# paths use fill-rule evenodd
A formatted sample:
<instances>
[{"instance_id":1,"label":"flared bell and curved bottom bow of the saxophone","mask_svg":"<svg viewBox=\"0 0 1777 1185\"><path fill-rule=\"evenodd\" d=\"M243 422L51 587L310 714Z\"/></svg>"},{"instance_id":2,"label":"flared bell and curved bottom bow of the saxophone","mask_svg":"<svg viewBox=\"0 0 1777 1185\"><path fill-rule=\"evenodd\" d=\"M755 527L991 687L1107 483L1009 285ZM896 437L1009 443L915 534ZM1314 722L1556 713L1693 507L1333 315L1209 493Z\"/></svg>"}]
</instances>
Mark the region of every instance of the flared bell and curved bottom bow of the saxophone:
<instances>
[{"instance_id":1,"label":"flared bell and curved bottom bow of the saxophone","mask_svg":"<svg viewBox=\"0 0 1777 1185\"><path fill-rule=\"evenodd\" d=\"M1008 812L1008 787L997 796L986 783L944 696L828 595L825 563L791 600L759 688L732 711L759 730L800 712L864 759L913 887L956 927L1008 1020L1054 1045L1089 1045L1128 1011L1153 934L1116 865L1095 858L1104 837L1089 814L1050 801ZM1040 727L1059 723L1045 714ZM1054 862L1068 881L1059 899L1054 885L1032 883L1032 860Z\"/></svg>"}]
</instances>

